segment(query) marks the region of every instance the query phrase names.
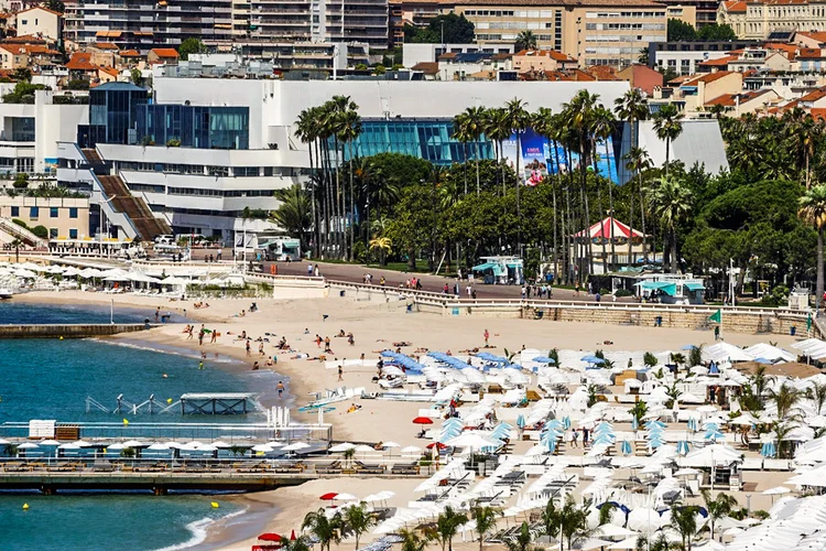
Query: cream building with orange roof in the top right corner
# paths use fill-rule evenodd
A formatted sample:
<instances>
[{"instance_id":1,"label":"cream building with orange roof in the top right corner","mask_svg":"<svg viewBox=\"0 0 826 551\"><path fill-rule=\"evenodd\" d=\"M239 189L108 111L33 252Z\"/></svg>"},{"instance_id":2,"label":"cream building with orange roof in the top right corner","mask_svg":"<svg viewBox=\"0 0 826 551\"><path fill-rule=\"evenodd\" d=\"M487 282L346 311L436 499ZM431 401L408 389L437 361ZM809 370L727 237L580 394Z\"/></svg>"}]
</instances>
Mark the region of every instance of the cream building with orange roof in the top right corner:
<instances>
[{"instance_id":1,"label":"cream building with orange roof in the top right corner","mask_svg":"<svg viewBox=\"0 0 826 551\"><path fill-rule=\"evenodd\" d=\"M771 33L826 31L826 3L807 0L728 0L717 9L717 22L739 39L764 40Z\"/></svg>"}]
</instances>

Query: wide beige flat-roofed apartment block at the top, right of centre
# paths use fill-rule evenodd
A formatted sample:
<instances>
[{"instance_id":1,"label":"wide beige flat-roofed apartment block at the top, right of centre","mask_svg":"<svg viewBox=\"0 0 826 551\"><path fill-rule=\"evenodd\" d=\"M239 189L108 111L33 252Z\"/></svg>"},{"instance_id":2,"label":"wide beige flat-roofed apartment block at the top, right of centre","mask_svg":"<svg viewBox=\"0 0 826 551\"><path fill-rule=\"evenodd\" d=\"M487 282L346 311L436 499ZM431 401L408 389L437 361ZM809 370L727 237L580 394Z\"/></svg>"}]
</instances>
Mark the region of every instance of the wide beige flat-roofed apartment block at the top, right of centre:
<instances>
[{"instance_id":1,"label":"wide beige flat-roofed apartment block at the top, right of centre","mask_svg":"<svg viewBox=\"0 0 826 551\"><path fill-rule=\"evenodd\" d=\"M580 66L622 68L651 42L664 42L667 8L651 0L458 0L443 11L464 14L481 45L512 44L531 31L540 48L555 50ZM694 10L682 11L694 23Z\"/></svg>"}]
</instances>

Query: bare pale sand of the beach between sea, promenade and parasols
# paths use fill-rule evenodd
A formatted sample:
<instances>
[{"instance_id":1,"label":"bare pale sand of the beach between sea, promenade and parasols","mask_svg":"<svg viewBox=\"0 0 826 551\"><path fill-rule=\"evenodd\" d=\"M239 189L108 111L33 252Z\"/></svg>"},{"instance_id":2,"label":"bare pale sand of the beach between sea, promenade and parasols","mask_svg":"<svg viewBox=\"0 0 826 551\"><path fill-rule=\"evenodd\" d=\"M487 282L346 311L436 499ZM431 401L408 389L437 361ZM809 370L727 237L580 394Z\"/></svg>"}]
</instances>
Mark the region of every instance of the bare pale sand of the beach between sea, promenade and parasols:
<instances>
[{"instance_id":1,"label":"bare pale sand of the beach between sea, promenade and parasols","mask_svg":"<svg viewBox=\"0 0 826 551\"><path fill-rule=\"evenodd\" d=\"M714 335L710 331L699 332L689 329L673 329L662 327L611 326L588 323L565 323L534 320L510 320L481 316L438 316L434 314L404 312L403 303L366 303L355 302L346 298L328 298L314 300L256 300L259 311L249 313L252 302L246 300L216 300L208 309L196 310L193 301L170 301L149 296L131 295L96 295L80 291L57 293L28 293L14 298L19 302L57 303L85 302L109 304L115 301L115 307L128 306L145 309L146 316L153 317L157 306L161 311L176 311L183 313L197 324L204 323L208 328L218 331L220 337L216 344L205 342L203 348L197 338L187 341L182 333L181 324L166 325L138 335L131 334L124 338L140 338L157 345L191 347L203 349L207 354L225 354L241 360L249 369L254 360L263 360L258 354L258 343L252 343L251 357L244 353L244 343L239 338L241 332L253 339L270 334L270 343L265 344L268 356L278 354L279 361L273 367L287 379L285 385L292 396L292 403L303 406L312 398L311 392L333 389L341 386L365 387L368 391L377 391L378 386L371 381L376 368L348 368L344 372L343 381L338 381L336 369L325 369L317 360L291 359L297 353L306 353L311 357L323 353L314 342L316 334L329 337L333 353L328 359L358 358L361 354L367 359L377 359L382 349L392 347L394 342L410 342L410 346L402 348L405 354L414 355L419 348L458 354L463 349L481 347L483 332L490 332L490 344L496 348L493 353L519 350L528 348L564 348L580 349L593 353L597 348L609 350L646 350L659 352L680 349L685 345L710 344ZM242 310L246 315L240 316ZM325 320L326 316L326 320ZM335 335L344 329L351 332L355 344L348 345L346 338ZM197 333L197 328L196 328ZM285 337L295 353L275 349L279 338ZM779 346L787 346L794 342L791 336L724 334L724 338L735 345L745 346L760 342L776 341ZM118 338L118 337L115 337ZM612 345L604 344L606 341ZM393 347L395 348L395 347ZM241 365L241 364L239 364ZM238 367L236 367L238 368ZM265 367L262 367L262 369ZM270 389L271 390L271 389ZM292 404L291 403L291 404ZM394 441L402 446L422 445L416 439L416 426L411 420L416 417L422 403L404 403L383 400L360 400L362 407L354 413L346 413L346 406L325 415L325 421L334 424L334 439L354 442ZM294 412L297 419L301 414ZM313 415L315 419L315 415ZM514 453L524 453L529 443L519 442ZM523 447L524 446L524 447ZM789 477L789 473L749 473L745 482L757 483L757 493L776 486ZM749 479L752 477L753 479ZM275 491L239 496L233 500L260 504L271 504L276 507L273 518L267 525L267 531L290 533L300 528L304 515L313 510L322 501L318 495L325 491L347 491L357 496L376 493L383 489L395 491L391 506L405 506L414 500L413 488L421 482L411 479L370 479L370 478L336 478L333 480L314 480L298 487L282 488ZM752 508L768 508L770 496L754 495ZM765 501L765 503L763 503ZM746 505L745 503L741 505ZM231 529L221 532L213 531L208 543L226 544L226 549L249 549L254 540L237 541L238 536ZM370 537L366 538L367 540ZM351 545L348 541L346 545ZM475 544L476 545L476 544Z\"/></svg>"}]
</instances>

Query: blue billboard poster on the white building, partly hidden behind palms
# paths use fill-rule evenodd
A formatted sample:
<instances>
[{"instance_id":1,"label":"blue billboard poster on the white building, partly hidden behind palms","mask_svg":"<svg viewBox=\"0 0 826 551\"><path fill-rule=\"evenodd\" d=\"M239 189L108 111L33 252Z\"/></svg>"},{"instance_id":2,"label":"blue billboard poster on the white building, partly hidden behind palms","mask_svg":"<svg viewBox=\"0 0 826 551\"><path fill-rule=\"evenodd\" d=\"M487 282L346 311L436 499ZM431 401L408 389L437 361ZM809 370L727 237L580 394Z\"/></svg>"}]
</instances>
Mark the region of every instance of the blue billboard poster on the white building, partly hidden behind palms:
<instances>
[{"instance_id":1,"label":"blue billboard poster on the white building, partly hidden behind palms","mask_svg":"<svg viewBox=\"0 0 826 551\"><path fill-rule=\"evenodd\" d=\"M502 142L502 156L508 165L520 175L520 180L525 185L536 185L548 174L565 174L569 170L579 170L579 155L576 152L572 152L572 166L568 166L568 153L565 148L558 143L550 142L532 129L522 132L520 144L519 168L517 168L515 133L511 134L509 140ZM588 170L593 171L594 166L588 166ZM597 142L596 170L602 177L607 177L613 183L619 182L611 138Z\"/></svg>"}]
</instances>

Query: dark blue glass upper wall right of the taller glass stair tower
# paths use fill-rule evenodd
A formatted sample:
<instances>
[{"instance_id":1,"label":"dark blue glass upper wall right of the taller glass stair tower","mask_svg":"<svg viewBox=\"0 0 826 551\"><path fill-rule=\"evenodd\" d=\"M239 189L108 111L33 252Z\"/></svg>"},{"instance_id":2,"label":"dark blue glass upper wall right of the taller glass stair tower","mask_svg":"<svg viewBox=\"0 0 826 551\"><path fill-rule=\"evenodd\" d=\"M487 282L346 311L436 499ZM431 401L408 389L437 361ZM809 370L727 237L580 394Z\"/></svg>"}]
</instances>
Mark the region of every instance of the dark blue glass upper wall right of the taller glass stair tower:
<instances>
[{"instance_id":1,"label":"dark blue glass upper wall right of the taller glass stair tower","mask_svg":"<svg viewBox=\"0 0 826 551\"><path fill-rule=\"evenodd\" d=\"M249 122L248 107L140 105L135 133L157 145L180 140L182 148L249 149Z\"/></svg>"}]
</instances>

